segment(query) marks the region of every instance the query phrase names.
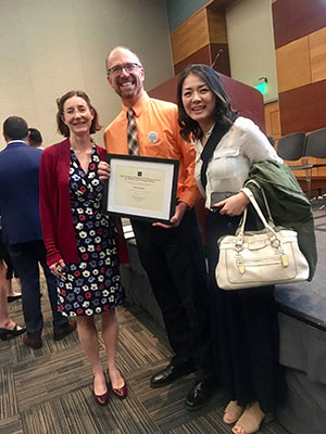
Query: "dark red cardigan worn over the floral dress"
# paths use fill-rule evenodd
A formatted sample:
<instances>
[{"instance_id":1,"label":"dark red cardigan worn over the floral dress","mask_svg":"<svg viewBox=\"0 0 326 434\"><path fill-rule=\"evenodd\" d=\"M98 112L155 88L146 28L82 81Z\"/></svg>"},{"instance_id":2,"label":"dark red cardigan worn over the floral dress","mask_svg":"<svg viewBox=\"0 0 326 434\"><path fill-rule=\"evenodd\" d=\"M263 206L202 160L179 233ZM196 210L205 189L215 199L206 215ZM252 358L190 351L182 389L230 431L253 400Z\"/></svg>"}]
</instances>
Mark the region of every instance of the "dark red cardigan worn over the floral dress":
<instances>
[{"instance_id":1,"label":"dark red cardigan worn over the floral dress","mask_svg":"<svg viewBox=\"0 0 326 434\"><path fill-rule=\"evenodd\" d=\"M97 150L100 159L105 159L106 151L98 145ZM66 263L79 261L70 199L70 139L42 151L39 169L39 206L48 266L61 258ZM121 263L126 263L127 250L121 231L117 245Z\"/></svg>"}]
</instances>

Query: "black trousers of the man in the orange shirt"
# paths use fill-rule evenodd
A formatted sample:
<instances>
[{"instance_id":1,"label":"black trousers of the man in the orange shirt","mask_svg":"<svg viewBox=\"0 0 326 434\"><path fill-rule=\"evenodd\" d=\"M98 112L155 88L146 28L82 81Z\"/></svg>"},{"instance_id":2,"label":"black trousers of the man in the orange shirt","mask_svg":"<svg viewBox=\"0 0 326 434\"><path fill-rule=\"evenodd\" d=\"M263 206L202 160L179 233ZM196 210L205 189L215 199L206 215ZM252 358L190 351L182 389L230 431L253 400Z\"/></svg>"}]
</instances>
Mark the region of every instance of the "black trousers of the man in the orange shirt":
<instances>
[{"instance_id":1,"label":"black trousers of the man in the orange shirt","mask_svg":"<svg viewBox=\"0 0 326 434\"><path fill-rule=\"evenodd\" d=\"M200 380L211 378L208 277L195 210L178 228L131 220L142 267L162 310L173 363L192 359Z\"/></svg>"}]
</instances>

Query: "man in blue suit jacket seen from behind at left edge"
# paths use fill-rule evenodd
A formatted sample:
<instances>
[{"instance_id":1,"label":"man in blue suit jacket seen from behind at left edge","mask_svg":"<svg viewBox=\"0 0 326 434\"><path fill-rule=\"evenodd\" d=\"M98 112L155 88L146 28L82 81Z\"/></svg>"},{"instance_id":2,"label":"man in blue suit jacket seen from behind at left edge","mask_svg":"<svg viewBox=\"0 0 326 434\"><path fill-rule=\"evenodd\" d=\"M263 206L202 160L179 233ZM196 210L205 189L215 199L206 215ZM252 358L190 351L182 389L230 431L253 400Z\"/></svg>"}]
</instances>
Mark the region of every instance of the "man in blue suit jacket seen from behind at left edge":
<instances>
[{"instance_id":1,"label":"man in blue suit jacket seen from behind at left edge","mask_svg":"<svg viewBox=\"0 0 326 434\"><path fill-rule=\"evenodd\" d=\"M43 318L40 304L41 265L53 317L53 339L75 330L58 311L55 279L46 265L46 248L39 217L39 163L41 153L27 145L28 127L18 116L3 123L7 148L0 152L0 209L3 241L22 282L22 305L26 324L25 345L42 346Z\"/></svg>"}]
</instances>

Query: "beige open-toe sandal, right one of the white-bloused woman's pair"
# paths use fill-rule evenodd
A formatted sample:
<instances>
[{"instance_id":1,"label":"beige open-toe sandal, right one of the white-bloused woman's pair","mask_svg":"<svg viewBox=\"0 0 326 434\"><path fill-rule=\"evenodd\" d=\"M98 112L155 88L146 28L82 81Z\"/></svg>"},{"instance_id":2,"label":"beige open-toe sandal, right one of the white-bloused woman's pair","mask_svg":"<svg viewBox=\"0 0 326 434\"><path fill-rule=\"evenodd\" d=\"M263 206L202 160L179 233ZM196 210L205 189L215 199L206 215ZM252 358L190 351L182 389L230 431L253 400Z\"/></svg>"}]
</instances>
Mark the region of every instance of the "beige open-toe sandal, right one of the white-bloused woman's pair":
<instances>
[{"instance_id":1,"label":"beige open-toe sandal, right one of the white-bloused woman's pair","mask_svg":"<svg viewBox=\"0 0 326 434\"><path fill-rule=\"evenodd\" d=\"M273 419L272 414L265 414L259 403L249 404L246 407L241 418L237 421L233 427L235 434L253 434L259 431L263 421L267 422Z\"/></svg>"}]
</instances>

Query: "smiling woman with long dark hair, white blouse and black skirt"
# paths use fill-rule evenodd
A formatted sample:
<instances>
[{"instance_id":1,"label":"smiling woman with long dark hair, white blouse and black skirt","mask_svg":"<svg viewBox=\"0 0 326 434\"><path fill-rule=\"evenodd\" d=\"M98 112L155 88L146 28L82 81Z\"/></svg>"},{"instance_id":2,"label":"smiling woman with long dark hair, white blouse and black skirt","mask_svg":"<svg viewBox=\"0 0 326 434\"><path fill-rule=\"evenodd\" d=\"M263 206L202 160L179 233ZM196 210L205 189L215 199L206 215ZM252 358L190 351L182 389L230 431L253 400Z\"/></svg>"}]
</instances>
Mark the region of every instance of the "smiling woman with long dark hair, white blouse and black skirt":
<instances>
[{"instance_id":1,"label":"smiling woman with long dark hair, white blouse and black skirt","mask_svg":"<svg viewBox=\"0 0 326 434\"><path fill-rule=\"evenodd\" d=\"M274 286L220 290L215 281L217 240L235 233L249 204L240 190L250 166L265 158L281 159L259 127L231 110L217 73L206 65L191 65L181 73L178 108L180 133L196 146L196 179L210 209L206 252L215 368L230 398L223 420L235 423L234 433L250 434L259 430L276 403L278 327ZM211 135L214 139L209 141ZM254 218L249 224L255 228Z\"/></svg>"}]
</instances>

